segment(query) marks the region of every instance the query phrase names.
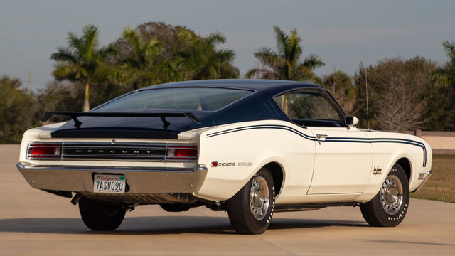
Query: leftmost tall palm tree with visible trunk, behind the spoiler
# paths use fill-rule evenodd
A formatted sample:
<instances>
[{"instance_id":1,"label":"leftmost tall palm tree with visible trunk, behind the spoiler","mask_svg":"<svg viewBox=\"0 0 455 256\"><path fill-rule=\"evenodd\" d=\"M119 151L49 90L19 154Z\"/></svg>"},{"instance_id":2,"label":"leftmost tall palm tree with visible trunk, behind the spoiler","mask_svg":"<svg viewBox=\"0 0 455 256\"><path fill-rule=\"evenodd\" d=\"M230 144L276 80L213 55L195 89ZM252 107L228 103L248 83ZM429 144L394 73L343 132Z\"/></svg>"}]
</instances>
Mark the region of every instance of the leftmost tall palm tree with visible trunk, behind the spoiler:
<instances>
[{"instance_id":1,"label":"leftmost tall palm tree with visible trunk, behind the spoiler","mask_svg":"<svg viewBox=\"0 0 455 256\"><path fill-rule=\"evenodd\" d=\"M57 53L50 55L50 59L57 61L52 72L57 80L85 83L83 111L90 110L90 83L109 72L109 69L104 67L105 59L113 52L111 47L100 48L98 28L87 25L80 37L68 33L68 47L60 47Z\"/></svg>"}]
</instances>

